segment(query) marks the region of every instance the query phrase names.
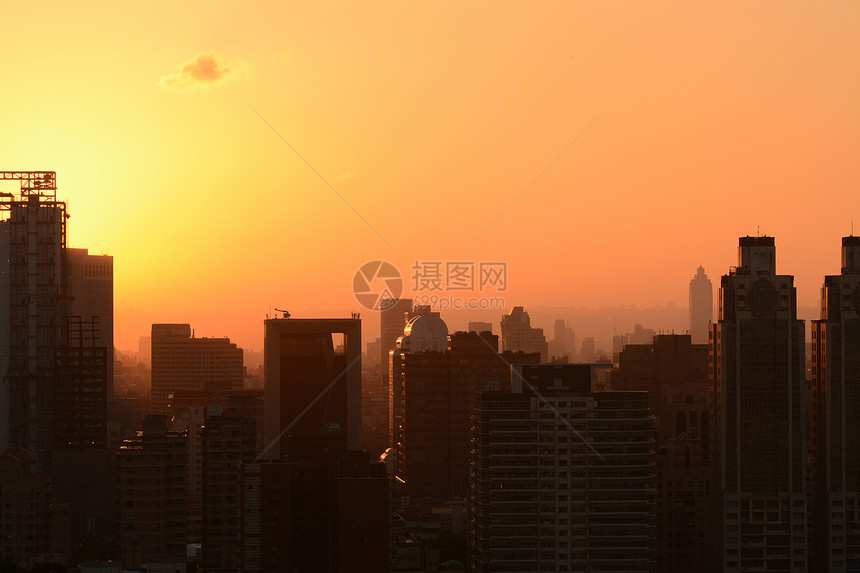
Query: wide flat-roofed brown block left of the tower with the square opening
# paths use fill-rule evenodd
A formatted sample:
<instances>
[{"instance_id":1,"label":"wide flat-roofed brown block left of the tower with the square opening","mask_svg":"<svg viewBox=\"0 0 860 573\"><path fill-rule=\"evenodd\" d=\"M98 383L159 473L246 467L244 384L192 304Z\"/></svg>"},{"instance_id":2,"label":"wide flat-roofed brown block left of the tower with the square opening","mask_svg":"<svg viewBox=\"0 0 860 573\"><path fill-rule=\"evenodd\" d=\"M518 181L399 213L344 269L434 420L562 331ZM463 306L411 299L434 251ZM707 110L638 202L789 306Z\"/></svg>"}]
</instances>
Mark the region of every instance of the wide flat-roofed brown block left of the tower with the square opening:
<instances>
[{"instance_id":1,"label":"wide flat-roofed brown block left of the tower with the square opening","mask_svg":"<svg viewBox=\"0 0 860 573\"><path fill-rule=\"evenodd\" d=\"M229 338L197 338L189 324L152 325L152 411L168 414L174 393L241 390L242 349Z\"/></svg>"}]
</instances>

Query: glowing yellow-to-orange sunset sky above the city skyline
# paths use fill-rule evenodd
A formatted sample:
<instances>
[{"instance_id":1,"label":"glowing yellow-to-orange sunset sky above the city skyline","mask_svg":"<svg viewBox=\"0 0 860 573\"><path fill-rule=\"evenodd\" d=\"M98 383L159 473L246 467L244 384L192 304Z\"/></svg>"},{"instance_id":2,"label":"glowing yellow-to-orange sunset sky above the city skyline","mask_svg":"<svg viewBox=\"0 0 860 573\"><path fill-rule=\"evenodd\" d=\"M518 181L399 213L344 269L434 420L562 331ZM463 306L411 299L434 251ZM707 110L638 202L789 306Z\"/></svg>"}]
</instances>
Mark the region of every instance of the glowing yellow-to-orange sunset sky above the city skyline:
<instances>
[{"instance_id":1,"label":"glowing yellow-to-orange sunset sky above the city skyline","mask_svg":"<svg viewBox=\"0 0 860 573\"><path fill-rule=\"evenodd\" d=\"M860 228L858 30L853 0L7 3L0 168L57 171L70 244L115 257L120 349L259 349L270 307L361 310L374 259L686 306L759 228L814 306Z\"/></svg>"}]
</instances>

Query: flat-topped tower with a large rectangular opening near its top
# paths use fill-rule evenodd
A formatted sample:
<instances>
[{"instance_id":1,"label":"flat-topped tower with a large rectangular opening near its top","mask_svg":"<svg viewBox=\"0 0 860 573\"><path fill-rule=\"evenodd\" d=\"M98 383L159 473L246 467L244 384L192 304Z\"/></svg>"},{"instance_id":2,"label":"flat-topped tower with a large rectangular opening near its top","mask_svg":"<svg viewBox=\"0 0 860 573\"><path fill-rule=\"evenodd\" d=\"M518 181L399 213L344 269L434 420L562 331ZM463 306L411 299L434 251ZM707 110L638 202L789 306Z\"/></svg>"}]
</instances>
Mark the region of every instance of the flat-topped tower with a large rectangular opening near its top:
<instances>
[{"instance_id":1,"label":"flat-topped tower with a large rectangular opening near its top","mask_svg":"<svg viewBox=\"0 0 860 573\"><path fill-rule=\"evenodd\" d=\"M342 336L342 352L333 335ZM264 345L263 457L285 454L290 435L338 435L346 449L360 450L361 320L269 319Z\"/></svg>"}]
</instances>

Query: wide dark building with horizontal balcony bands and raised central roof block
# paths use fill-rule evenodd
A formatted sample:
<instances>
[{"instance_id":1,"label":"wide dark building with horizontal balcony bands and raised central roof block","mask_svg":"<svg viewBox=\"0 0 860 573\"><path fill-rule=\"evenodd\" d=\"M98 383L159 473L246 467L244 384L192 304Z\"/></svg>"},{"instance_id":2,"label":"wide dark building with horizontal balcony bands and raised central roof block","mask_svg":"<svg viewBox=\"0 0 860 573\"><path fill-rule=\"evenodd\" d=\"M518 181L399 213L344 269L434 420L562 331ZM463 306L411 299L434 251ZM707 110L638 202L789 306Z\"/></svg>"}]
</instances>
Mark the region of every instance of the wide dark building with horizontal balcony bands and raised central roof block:
<instances>
[{"instance_id":1,"label":"wide dark building with horizontal balcony bands and raised central roof block","mask_svg":"<svg viewBox=\"0 0 860 573\"><path fill-rule=\"evenodd\" d=\"M517 365L473 418L470 571L650 571L654 419L586 364Z\"/></svg>"}]
</instances>

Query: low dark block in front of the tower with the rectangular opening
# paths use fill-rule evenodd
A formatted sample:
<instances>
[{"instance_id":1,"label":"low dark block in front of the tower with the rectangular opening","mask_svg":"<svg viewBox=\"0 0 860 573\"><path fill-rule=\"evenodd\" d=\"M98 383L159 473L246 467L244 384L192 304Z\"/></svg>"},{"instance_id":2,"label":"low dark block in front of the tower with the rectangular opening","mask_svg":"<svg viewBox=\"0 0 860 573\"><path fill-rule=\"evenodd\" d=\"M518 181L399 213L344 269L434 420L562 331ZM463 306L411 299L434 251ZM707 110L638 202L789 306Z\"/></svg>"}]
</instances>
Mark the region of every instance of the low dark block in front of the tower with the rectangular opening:
<instances>
[{"instance_id":1,"label":"low dark block in front of the tower with the rectangular opening","mask_svg":"<svg viewBox=\"0 0 860 573\"><path fill-rule=\"evenodd\" d=\"M384 466L337 437L289 442L286 459L243 465L240 570L388 571Z\"/></svg>"}]
</instances>

